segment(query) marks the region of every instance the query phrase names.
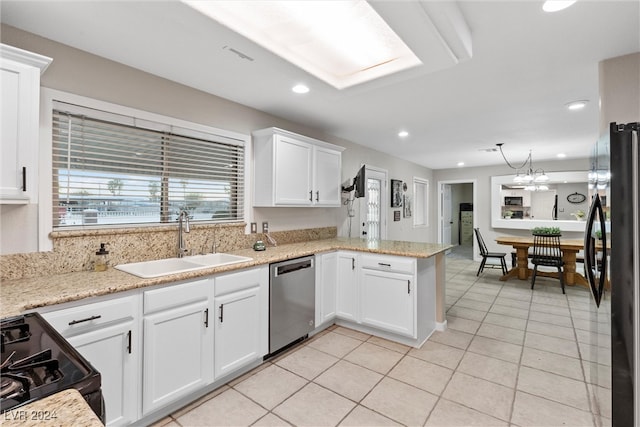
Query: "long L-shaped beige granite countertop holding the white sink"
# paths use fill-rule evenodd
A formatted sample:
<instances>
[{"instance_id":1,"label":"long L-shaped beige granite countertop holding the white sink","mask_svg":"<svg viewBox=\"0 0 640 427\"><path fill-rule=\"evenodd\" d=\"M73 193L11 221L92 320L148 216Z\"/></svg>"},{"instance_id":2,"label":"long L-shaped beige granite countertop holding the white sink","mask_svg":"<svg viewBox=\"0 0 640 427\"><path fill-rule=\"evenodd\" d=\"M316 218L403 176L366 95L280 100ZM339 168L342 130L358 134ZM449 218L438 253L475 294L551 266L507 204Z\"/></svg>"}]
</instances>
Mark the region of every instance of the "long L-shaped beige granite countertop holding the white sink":
<instances>
[{"instance_id":1,"label":"long L-shaped beige granite countertop holding the white sink","mask_svg":"<svg viewBox=\"0 0 640 427\"><path fill-rule=\"evenodd\" d=\"M132 289L187 280L258 265L269 264L290 258L312 255L333 250L353 250L377 254L399 255L414 258L429 258L452 247L437 243L401 242L393 240L365 240L333 238L268 246L265 251L244 249L229 253L252 258L252 261L172 274L152 279L141 279L129 273L109 268L104 272L79 271L74 273L6 280L0 289L0 318L15 316L64 302L89 297L109 295ZM46 274L46 272L44 272Z\"/></svg>"}]
</instances>

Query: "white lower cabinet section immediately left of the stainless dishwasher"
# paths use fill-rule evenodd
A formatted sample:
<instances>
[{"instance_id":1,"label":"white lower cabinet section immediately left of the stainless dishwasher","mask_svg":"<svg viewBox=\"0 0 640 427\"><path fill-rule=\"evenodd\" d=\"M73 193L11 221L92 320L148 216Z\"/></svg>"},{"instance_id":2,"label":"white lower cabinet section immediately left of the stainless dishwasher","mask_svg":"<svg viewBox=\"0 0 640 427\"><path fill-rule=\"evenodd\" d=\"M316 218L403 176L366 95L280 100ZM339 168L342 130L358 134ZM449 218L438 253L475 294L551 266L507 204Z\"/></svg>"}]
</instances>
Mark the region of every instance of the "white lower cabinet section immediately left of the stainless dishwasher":
<instances>
[{"instance_id":1,"label":"white lower cabinet section immediately left of the stainless dishwasher","mask_svg":"<svg viewBox=\"0 0 640 427\"><path fill-rule=\"evenodd\" d=\"M215 278L215 378L239 369L268 352L266 267Z\"/></svg>"}]
</instances>

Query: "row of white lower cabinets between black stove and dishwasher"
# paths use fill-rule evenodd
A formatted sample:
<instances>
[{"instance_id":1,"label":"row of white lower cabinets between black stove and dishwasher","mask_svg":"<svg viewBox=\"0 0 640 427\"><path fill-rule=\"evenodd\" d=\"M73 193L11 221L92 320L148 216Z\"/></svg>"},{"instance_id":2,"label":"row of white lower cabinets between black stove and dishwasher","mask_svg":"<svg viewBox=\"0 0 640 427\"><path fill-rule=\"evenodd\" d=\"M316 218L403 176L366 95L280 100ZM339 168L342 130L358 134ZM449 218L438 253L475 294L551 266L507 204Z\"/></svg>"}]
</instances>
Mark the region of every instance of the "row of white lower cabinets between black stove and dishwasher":
<instances>
[{"instance_id":1,"label":"row of white lower cabinets between black stove and dishwasher","mask_svg":"<svg viewBox=\"0 0 640 427\"><path fill-rule=\"evenodd\" d=\"M269 267L41 314L100 372L107 425L130 425L262 360Z\"/></svg>"}]
</instances>

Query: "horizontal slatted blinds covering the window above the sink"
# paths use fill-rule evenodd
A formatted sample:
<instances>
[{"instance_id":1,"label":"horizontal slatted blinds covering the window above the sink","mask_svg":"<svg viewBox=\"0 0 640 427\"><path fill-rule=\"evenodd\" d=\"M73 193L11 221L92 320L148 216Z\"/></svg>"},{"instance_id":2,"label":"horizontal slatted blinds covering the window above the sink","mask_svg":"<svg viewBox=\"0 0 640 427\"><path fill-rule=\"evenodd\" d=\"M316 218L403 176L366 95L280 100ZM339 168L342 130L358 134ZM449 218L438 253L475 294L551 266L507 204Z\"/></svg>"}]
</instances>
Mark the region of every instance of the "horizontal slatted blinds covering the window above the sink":
<instances>
[{"instance_id":1,"label":"horizontal slatted blinds covering the window above the sink","mask_svg":"<svg viewBox=\"0 0 640 427\"><path fill-rule=\"evenodd\" d=\"M243 220L241 142L73 110L53 111L54 229L167 223L181 210L195 221Z\"/></svg>"}]
</instances>

